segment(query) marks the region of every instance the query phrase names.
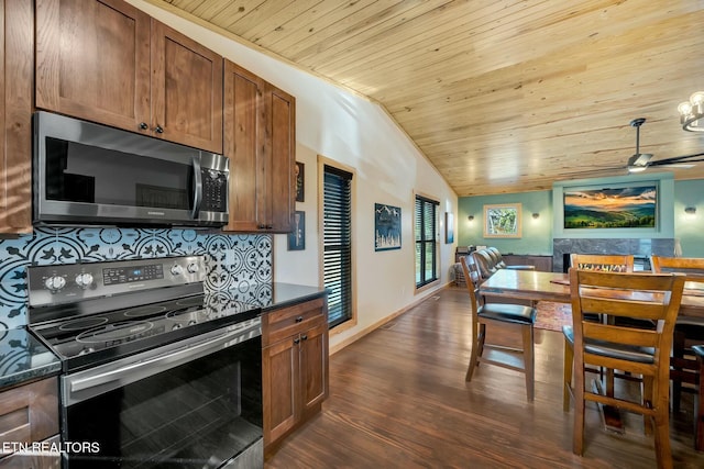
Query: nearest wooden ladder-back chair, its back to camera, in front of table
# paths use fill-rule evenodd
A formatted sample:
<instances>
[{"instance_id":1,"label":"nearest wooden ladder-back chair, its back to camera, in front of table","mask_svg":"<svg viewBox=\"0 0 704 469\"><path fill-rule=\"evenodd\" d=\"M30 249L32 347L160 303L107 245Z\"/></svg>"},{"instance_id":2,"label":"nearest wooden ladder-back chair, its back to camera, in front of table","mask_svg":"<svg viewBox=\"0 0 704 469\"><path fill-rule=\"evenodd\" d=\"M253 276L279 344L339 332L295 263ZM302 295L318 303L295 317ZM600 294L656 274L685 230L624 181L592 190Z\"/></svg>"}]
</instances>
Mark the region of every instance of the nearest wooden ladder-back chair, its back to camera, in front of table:
<instances>
[{"instance_id":1,"label":"nearest wooden ladder-back chair, its back to camera, in front of table","mask_svg":"<svg viewBox=\"0 0 704 469\"><path fill-rule=\"evenodd\" d=\"M672 467L670 347L683 287L684 276L678 273L570 269L573 326L564 328L564 386L574 398L574 454L583 453L585 403L592 401L652 421L658 467ZM638 321L620 326L610 321L587 321L584 317L587 313ZM650 321L657 323L656 328L637 326ZM620 393L614 397L595 392L591 387L587 390L587 366L641 376L642 397L629 399Z\"/></svg>"}]
</instances>

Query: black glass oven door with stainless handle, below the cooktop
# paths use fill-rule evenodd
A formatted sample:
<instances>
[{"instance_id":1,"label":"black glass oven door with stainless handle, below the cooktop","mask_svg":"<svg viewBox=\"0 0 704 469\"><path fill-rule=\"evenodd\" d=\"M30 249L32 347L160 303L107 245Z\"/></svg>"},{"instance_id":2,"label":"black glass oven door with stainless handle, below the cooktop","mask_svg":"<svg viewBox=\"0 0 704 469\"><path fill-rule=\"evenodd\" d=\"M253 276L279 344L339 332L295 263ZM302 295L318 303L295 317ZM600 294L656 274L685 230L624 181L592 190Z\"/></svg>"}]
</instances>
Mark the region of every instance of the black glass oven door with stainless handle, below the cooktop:
<instances>
[{"instance_id":1,"label":"black glass oven door with stainless handle, below the cooktop","mask_svg":"<svg viewBox=\"0 0 704 469\"><path fill-rule=\"evenodd\" d=\"M246 323L64 376L64 467L262 467L261 322Z\"/></svg>"}]
</instances>

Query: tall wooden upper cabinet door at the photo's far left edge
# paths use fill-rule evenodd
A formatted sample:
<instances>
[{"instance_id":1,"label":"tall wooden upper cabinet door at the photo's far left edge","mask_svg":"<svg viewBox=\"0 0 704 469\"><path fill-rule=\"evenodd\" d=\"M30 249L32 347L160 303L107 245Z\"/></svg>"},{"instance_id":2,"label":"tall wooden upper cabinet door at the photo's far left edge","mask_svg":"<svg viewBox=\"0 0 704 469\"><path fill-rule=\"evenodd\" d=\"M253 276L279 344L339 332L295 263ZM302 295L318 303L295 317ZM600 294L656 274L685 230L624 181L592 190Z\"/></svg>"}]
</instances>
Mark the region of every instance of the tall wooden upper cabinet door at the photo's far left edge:
<instances>
[{"instance_id":1,"label":"tall wooden upper cabinet door at the photo's far left edge","mask_svg":"<svg viewBox=\"0 0 704 469\"><path fill-rule=\"evenodd\" d=\"M0 233L32 232L32 2L0 1Z\"/></svg>"}]
</instances>

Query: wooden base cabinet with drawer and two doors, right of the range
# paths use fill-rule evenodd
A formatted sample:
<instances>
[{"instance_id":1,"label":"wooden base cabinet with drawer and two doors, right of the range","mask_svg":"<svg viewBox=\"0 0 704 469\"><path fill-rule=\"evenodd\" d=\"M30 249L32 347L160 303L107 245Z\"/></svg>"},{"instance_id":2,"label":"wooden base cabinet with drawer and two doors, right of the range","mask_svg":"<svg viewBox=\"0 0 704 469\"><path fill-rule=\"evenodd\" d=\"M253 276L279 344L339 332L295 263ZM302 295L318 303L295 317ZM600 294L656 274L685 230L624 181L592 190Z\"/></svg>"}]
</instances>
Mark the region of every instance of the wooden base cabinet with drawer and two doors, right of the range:
<instances>
[{"instance_id":1,"label":"wooden base cabinet with drawer and two doors, right of the range","mask_svg":"<svg viewBox=\"0 0 704 469\"><path fill-rule=\"evenodd\" d=\"M262 346L264 447L271 453L328 397L327 299L264 314Z\"/></svg>"}]
</instances>

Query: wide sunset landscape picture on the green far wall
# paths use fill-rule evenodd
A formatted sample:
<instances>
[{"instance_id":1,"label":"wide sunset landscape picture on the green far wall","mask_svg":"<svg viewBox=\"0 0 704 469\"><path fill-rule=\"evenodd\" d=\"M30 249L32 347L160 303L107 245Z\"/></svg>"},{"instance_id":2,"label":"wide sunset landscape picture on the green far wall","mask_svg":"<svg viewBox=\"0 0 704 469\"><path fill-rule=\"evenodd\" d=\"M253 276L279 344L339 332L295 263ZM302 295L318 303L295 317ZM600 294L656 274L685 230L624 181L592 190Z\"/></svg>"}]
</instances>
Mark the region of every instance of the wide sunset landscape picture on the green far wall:
<instances>
[{"instance_id":1,"label":"wide sunset landscape picture on the green far wall","mask_svg":"<svg viewBox=\"0 0 704 469\"><path fill-rule=\"evenodd\" d=\"M653 228L656 186L564 192L565 228Z\"/></svg>"}]
</instances>

